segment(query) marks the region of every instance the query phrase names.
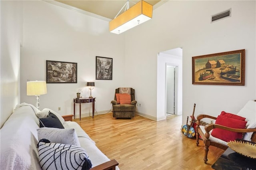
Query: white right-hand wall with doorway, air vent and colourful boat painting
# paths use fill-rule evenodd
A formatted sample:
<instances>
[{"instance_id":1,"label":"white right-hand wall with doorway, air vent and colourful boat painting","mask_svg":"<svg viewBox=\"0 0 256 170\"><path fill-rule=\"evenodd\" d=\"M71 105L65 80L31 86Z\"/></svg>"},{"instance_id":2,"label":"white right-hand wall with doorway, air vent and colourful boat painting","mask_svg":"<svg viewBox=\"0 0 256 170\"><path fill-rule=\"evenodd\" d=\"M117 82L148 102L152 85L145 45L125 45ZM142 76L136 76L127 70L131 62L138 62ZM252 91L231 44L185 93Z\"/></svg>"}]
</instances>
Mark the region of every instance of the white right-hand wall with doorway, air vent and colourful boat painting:
<instances>
[{"instance_id":1,"label":"white right-hand wall with doorway, air vent and colourful boat painting","mask_svg":"<svg viewBox=\"0 0 256 170\"><path fill-rule=\"evenodd\" d=\"M237 113L256 98L255 1L168 1L153 19L126 32L126 77L136 82L138 111L157 115L157 53L183 49L183 120L192 114ZM232 8L232 17L210 23L212 14ZM246 49L245 86L192 85L192 57ZM132 69L129 69L132 68ZM129 75L128 75L129 73ZM227 94L227 95L226 95ZM228 96L228 97L225 97ZM156 103L158 103L156 105Z\"/></svg>"}]
</instances>

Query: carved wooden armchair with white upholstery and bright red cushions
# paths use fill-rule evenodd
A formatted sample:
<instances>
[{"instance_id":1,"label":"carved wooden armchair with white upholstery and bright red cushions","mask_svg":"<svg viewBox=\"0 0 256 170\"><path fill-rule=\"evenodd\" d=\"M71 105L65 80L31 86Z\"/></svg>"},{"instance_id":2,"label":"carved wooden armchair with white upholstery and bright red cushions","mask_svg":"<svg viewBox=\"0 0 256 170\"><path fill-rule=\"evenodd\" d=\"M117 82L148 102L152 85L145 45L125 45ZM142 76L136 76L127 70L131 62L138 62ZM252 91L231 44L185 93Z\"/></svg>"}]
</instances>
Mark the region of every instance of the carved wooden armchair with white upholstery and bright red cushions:
<instances>
[{"instance_id":1,"label":"carved wooden armchair with white upholstery and bright red cushions","mask_svg":"<svg viewBox=\"0 0 256 170\"><path fill-rule=\"evenodd\" d=\"M215 124L200 125L204 118L214 119ZM209 146L216 146L223 150L228 148L228 142L243 138L256 142L256 102L248 101L237 115L224 111L218 117L198 115L196 121L196 146L199 138L204 141L204 163L207 162Z\"/></svg>"}]
</instances>

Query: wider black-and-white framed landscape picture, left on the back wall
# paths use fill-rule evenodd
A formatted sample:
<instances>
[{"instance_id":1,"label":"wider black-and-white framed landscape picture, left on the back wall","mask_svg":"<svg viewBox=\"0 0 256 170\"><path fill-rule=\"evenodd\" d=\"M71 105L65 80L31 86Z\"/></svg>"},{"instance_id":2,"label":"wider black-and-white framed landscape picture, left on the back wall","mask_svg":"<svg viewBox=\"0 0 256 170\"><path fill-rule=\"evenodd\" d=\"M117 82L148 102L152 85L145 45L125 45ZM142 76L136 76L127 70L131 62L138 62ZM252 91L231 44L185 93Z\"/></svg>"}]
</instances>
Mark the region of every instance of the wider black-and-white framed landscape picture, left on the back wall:
<instances>
[{"instance_id":1,"label":"wider black-and-white framed landscape picture, left on the back wall","mask_svg":"<svg viewBox=\"0 0 256 170\"><path fill-rule=\"evenodd\" d=\"M77 83L77 63L46 60L46 83Z\"/></svg>"}]
</instances>

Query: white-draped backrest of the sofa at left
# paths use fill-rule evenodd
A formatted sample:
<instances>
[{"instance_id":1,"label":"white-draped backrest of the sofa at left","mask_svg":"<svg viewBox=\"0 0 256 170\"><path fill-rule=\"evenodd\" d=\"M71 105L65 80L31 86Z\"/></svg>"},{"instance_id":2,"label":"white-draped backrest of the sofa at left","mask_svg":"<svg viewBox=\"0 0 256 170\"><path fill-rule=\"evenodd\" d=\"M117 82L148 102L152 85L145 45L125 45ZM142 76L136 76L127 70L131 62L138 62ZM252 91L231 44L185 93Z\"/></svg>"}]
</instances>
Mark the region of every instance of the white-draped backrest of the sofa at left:
<instances>
[{"instance_id":1,"label":"white-draped backrest of the sofa at left","mask_svg":"<svg viewBox=\"0 0 256 170\"><path fill-rule=\"evenodd\" d=\"M36 148L36 114L29 105L22 106L10 115L0 129L0 169L39 170L38 149Z\"/></svg>"}]
</instances>

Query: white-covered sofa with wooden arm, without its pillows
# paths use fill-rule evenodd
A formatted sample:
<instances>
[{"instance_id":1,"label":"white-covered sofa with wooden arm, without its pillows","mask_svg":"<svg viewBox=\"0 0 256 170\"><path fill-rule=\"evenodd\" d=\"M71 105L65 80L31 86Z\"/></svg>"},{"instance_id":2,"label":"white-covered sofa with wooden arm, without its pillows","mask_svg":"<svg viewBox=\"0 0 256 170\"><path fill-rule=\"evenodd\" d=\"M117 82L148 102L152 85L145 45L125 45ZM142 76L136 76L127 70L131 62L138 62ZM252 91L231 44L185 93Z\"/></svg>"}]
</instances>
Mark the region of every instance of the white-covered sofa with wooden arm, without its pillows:
<instances>
[{"instance_id":1,"label":"white-covered sofa with wooden arm, without its pillows","mask_svg":"<svg viewBox=\"0 0 256 170\"><path fill-rule=\"evenodd\" d=\"M33 105L17 105L16 109L0 129L0 169L1 170L40 170L38 160L39 112ZM110 160L95 145L95 142L72 121L63 123L65 128L74 128L80 146L86 150L92 162L91 169L119 169L116 160Z\"/></svg>"}]
</instances>

